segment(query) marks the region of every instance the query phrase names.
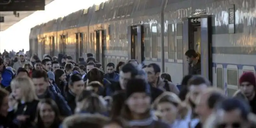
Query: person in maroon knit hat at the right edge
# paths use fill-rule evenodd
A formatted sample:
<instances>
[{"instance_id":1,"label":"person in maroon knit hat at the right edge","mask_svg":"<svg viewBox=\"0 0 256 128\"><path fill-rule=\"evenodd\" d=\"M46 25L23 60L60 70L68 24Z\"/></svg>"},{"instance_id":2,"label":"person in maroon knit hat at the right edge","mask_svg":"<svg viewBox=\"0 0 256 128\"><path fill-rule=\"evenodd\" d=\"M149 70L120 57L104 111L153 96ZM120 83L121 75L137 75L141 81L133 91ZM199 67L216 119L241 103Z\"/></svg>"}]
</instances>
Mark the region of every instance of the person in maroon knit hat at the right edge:
<instances>
[{"instance_id":1,"label":"person in maroon knit hat at the right edge","mask_svg":"<svg viewBox=\"0 0 256 128\"><path fill-rule=\"evenodd\" d=\"M252 112L256 114L256 77L252 72L245 72L239 79L240 90L249 101Z\"/></svg>"}]
</instances>

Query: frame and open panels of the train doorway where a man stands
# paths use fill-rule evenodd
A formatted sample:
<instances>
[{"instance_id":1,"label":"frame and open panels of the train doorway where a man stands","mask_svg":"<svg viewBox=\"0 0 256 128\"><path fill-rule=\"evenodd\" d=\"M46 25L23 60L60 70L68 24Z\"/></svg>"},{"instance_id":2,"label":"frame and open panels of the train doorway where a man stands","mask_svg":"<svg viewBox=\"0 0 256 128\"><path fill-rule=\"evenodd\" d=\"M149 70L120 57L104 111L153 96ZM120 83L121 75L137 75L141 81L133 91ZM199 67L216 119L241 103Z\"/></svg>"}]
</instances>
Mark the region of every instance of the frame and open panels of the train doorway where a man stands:
<instances>
[{"instance_id":1,"label":"frame and open panels of the train doorway where a man stands","mask_svg":"<svg viewBox=\"0 0 256 128\"><path fill-rule=\"evenodd\" d=\"M188 74L188 62L185 52L189 50L191 44L191 22L194 20L200 21L201 27L201 75L212 82L212 16L199 15L195 17L185 17L182 20L182 38L183 38L183 76ZM194 42L194 41L193 41Z\"/></svg>"}]
</instances>

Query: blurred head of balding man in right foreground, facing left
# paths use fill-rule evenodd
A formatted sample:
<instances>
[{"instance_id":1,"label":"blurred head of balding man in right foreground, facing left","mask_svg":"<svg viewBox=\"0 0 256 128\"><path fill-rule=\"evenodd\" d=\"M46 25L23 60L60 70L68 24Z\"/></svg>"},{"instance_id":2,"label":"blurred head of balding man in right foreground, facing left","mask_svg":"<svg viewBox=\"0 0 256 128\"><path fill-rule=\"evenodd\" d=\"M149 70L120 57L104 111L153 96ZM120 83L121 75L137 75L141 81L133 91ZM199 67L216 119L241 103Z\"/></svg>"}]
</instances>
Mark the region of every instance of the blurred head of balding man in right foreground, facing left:
<instances>
[{"instance_id":1,"label":"blurred head of balding man in right foreground, facing left","mask_svg":"<svg viewBox=\"0 0 256 128\"><path fill-rule=\"evenodd\" d=\"M205 120L212 114L215 105L225 100L226 96L222 90L218 88L208 88L202 95L196 99L195 112L200 118L200 122L204 123Z\"/></svg>"}]
</instances>

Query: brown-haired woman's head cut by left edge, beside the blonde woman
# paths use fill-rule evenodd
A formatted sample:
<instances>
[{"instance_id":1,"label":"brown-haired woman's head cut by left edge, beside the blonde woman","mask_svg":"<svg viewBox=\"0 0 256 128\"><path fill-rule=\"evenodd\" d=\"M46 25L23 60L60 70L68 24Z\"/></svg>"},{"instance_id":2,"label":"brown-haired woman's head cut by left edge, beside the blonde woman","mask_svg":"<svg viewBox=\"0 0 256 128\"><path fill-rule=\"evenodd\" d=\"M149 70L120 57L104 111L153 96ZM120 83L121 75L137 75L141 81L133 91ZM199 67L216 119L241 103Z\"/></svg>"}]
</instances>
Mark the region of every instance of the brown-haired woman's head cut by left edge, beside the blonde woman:
<instances>
[{"instance_id":1,"label":"brown-haired woman's head cut by left edge, beside the blonde woman","mask_svg":"<svg viewBox=\"0 0 256 128\"><path fill-rule=\"evenodd\" d=\"M0 88L0 115L2 116L7 116L8 114L8 95L8 91L4 90L3 88Z\"/></svg>"}]
</instances>

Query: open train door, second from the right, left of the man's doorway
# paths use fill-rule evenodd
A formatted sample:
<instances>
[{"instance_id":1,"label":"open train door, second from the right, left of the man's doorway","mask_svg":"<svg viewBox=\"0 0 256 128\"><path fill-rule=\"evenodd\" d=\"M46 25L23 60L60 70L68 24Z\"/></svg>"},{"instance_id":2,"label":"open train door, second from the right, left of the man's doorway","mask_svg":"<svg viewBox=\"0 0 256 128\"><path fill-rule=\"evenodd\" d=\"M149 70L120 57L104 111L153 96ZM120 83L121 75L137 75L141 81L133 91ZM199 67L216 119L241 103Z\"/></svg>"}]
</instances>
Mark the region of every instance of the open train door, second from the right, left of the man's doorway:
<instances>
[{"instance_id":1,"label":"open train door, second from the right, left of the man's doorway","mask_svg":"<svg viewBox=\"0 0 256 128\"><path fill-rule=\"evenodd\" d=\"M128 58L140 64L144 61L144 26L128 26Z\"/></svg>"}]
</instances>

